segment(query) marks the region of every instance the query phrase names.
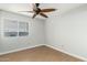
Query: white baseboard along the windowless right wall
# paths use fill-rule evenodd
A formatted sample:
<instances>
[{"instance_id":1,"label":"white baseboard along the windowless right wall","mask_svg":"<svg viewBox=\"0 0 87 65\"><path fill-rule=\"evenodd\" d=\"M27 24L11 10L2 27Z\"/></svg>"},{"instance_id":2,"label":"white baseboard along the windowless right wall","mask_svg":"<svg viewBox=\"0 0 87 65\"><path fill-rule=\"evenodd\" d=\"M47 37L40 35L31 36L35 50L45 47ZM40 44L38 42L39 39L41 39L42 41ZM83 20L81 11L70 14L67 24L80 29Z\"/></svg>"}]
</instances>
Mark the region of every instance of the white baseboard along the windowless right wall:
<instances>
[{"instance_id":1,"label":"white baseboard along the windowless right wall","mask_svg":"<svg viewBox=\"0 0 87 65\"><path fill-rule=\"evenodd\" d=\"M68 55L70 55L70 56L74 56L74 57L77 57L77 58L79 58L79 59L83 59L83 61L87 62L87 58L81 57L81 56L78 56L78 55L75 55L75 54L70 54L70 53L68 53L68 52L66 52L66 51L64 51L64 50L62 50L62 48L58 48L58 47L56 47L56 46L48 45L48 44L46 44L46 46L52 47L52 48L54 48L54 50L56 50L56 51L59 51L59 52L62 52L62 53L68 54Z\"/></svg>"}]
</instances>

